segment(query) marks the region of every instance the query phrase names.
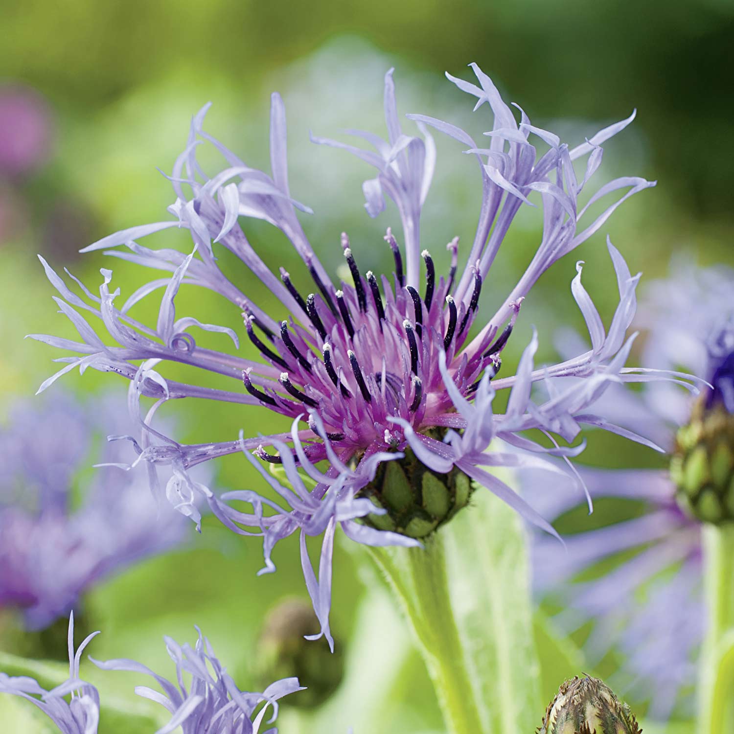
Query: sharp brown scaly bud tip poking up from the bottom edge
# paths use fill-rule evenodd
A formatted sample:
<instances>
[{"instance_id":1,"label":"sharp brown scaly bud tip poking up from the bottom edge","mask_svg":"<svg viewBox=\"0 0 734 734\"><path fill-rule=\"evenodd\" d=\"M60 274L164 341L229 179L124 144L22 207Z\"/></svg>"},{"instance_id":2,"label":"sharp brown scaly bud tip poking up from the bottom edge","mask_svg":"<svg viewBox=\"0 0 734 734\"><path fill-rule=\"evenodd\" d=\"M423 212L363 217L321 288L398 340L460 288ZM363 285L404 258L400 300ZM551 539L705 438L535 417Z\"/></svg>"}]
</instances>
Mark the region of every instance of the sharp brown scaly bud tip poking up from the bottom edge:
<instances>
[{"instance_id":1,"label":"sharp brown scaly bud tip poking up from the bottom edge","mask_svg":"<svg viewBox=\"0 0 734 734\"><path fill-rule=\"evenodd\" d=\"M537 734L640 734L642 730L614 691L597 678L574 676L548 704Z\"/></svg>"}]
</instances>

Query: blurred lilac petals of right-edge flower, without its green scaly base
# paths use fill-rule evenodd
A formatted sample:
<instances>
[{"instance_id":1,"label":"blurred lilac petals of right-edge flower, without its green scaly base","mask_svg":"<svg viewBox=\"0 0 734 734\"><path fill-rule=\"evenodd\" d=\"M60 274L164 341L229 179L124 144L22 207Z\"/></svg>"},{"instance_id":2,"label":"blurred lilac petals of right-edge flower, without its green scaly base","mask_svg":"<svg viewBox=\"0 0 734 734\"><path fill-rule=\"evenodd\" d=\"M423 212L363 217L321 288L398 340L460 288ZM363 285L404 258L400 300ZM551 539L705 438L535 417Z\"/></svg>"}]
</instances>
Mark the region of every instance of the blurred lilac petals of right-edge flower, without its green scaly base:
<instances>
[{"instance_id":1,"label":"blurred lilac petals of right-edge flower, without its green scaly base","mask_svg":"<svg viewBox=\"0 0 734 734\"><path fill-rule=\"evenodd\" d=\"M702 406L734 412L734 271L679 263L672 277L651 283L641 313L639 324L648 330L646 363L663 370L682 366L713 389L705 388L694 402L665 383L645 385L642 393L616 386L597 410L677 451L676 432ZM563 346L575 349L568 338ZM567 551L537 537L537 593L562 603L564 611L556 617L562 631L592 621L585 644L589 661L594 664L617 647L625 655L619 685L633 686L639 700L650 700L649 715L666 719L681 694L691 692L696 675L705 619L700 520L680 509L680 487L667 470L580 471L593 498L643 502L647 511L568 536ZM548 493L539 476L528 482L526 496L551 518L577 504L573 488ZM591 581L577 580L597 562L615 558L614 570L597 573Z\"/></svg>"}]
</instances>

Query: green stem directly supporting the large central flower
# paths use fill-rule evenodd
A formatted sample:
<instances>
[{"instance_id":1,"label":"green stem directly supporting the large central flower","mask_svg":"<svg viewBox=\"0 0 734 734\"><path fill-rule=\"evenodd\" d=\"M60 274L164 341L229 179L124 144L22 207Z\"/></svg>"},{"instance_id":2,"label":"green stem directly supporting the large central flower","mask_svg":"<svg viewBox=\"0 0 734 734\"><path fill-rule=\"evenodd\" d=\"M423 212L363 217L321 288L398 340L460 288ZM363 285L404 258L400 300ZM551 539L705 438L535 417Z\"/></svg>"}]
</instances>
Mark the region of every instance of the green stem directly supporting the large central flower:
<instances>
[{"instance_id":1,"label":"green stem directly supporting the large central flower","mask_svg":"<svg viewBox=\"0 0 734 734\"><path fill-rule=\"evenodd\" d=\"M451 608L440 534L429 538L425 548L371 548L370 553L413 628L448 734L486 733Z\"/></svg>"}]
</instances>

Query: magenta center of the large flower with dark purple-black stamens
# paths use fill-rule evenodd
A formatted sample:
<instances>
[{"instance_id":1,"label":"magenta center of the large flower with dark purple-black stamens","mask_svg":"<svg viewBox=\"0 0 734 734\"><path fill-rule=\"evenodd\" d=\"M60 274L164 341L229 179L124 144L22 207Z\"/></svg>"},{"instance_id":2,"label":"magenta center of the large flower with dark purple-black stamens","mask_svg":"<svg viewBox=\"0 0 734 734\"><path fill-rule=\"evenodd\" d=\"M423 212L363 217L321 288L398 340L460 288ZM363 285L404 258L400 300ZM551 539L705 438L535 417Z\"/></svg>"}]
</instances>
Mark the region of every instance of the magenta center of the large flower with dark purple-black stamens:
<instances>
[{"instance_id":1,"label":"magenta center of the large flower with dark purple-black stamens","mask_svg":"<svg viewBox=\"0 0 734 734\"><path fill-rule=\"evenodd\" d=\"M469 396L485 368L493 374L499 354L512 331L512 323L490 343L479 345L456 360L476 315L482 277L475 270L473 291L461 302L451 296L457 269L457 240L448 244L451 269L448 277L436 277L427 250L424 294L404 282L402 257L392 233L385 240L393 251L392 278L360 274L349 239L342 235L344 258L353 285L338 290L324 286L316 270L309 272L316 291L305 299L281 269L281 279L298 308L299 322L282 321L280 334L244 313L247 333L261 355L280 370L277 379L243 375L247 391L272 410L296 418L316 414L330 440L344 448L344 456L364 451L394 449L403 441L393 419L406 421L416 430L434 426L436 415L454 410L438 368L438 354L454 363L459 390ZM513 319L514 320L514 319ZM261 339L255 327L264 333ZM490 335L490 338L493 335ZM269 342L269 344L266 344ZM463 355L462 355L463 357ZM313 415L309 421L314 427ZM263 457L269 454L260 452Z\"/></svg>"}]
</instances>

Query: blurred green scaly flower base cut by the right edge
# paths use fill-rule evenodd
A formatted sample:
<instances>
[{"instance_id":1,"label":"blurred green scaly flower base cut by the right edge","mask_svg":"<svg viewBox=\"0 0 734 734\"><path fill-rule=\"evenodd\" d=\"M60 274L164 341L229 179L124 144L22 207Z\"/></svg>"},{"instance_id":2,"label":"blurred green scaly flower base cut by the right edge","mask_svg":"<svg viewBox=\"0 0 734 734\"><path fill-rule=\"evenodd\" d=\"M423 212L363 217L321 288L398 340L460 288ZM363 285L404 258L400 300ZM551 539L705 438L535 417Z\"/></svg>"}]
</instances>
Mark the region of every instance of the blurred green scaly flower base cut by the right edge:
<instances>
[{"instance_id":1,"label":"blurred green scaly flower base cut by the right edge","mask_svg":"<svg viewBox=\"0 0 734 734\"><path fill-rule=\"evenodd\" d=\"M675 438L670 476L686 512L705 523L734 521L734 415L697 401Z\"/></svg>"}]
</instances>

